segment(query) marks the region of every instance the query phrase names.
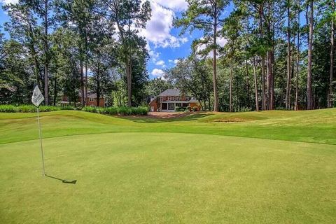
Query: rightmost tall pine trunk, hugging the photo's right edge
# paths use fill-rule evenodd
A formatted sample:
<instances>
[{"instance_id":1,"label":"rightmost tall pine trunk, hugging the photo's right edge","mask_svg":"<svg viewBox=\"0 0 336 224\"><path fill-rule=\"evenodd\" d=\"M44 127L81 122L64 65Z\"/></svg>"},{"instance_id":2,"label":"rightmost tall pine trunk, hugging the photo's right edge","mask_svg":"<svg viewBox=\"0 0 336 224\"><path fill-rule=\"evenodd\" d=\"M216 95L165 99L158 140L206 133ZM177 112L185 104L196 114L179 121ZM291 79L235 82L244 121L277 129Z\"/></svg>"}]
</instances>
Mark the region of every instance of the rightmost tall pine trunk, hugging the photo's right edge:
<instances>
[{"instance_id":1,"label":"rightmost tall pine trunk, hugging the photo's right edge","mask_svg":"<svg viewBox=\"0 0 336 224\"><path fill-rule=\"evenodd\" d=\"M332 18L331 18L331 35L330 35L330 77L329 77L329 94L328 94L328 108L332 107L332 81L334 79L334 36L335 26L333 14L335 13L335 0L331 1Z\"/></svg>"}]
</instances>

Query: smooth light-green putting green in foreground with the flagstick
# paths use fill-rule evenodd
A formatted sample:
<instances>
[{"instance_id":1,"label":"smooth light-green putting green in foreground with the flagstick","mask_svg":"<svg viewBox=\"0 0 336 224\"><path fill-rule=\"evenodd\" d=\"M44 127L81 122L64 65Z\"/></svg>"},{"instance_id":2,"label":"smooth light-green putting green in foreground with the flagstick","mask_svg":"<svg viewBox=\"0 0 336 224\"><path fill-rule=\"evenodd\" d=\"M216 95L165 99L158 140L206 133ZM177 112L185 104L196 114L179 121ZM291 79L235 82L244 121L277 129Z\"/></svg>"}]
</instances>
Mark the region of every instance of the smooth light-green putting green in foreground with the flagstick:
<instances>
[{"instance_id":1,"label":"smooth light-green putting green in foreground with the flagstick","mask_svg":"<svg viewBox=\"0 0 336 224\"><path fill-rule=\"evenodd\" d=\"M0 144L0 223L336 223L335 145L127 132L43 144L46 173L77 183L41 177L38 140Z\"/></svg>"}]
</instances>

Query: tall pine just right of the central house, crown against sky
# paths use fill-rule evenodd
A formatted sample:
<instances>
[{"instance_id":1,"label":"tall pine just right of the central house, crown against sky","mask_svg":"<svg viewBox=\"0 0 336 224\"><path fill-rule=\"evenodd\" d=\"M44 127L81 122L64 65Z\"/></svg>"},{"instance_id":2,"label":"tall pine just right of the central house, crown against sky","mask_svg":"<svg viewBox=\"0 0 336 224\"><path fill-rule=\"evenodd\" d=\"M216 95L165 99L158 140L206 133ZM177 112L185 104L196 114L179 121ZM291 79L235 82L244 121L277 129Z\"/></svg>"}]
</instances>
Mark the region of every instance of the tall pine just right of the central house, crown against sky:
<instances>
[{"instance_id":1,"label":"tall pine just right of the central house, crown against sky","mask_svg":"<svg viewBox=\"0 0 336 224\"><path fill-rule=\"evenodd\" d=\"M202 30L203 39L197 43L207 44L204 52L213 51L214 111L218 111L216 64L218 28L223 26L223 15L227 5L226 0L189 0L188 9L182 14L182 18L174 20L176 27L183 27L181 34L184 34L187 29L190 29L190 32L194 29Z\"/></svg>"}]
</instances>

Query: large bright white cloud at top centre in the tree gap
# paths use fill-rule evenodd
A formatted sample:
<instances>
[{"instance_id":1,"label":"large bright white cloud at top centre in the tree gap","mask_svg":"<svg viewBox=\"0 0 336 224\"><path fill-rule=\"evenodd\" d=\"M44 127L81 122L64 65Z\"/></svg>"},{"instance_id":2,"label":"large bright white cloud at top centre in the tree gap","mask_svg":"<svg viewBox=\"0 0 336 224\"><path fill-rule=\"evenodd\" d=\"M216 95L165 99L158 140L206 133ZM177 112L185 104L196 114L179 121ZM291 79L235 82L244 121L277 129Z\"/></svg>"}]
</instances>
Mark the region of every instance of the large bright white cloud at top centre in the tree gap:
<instances>
[{"instance_id":1,"label":"large bright white cloud at top centre in the tree gap","mask_svg":"<svg viewBox=\"0 0 336 224\"><path fill-rule=\"evenodd\" d=\"M155 48L178 48L181 44L186 43L188 38L172 36L170 33L173 28L174 11L160 5L165 2L165 6L169 7L170 1L152 0L152 17L146 24L146 29L141 29L139 34L144 36L146 40L153 43ZM180 0L181 1L181 0ZM176 1L179 2L179 1Z\"/></svg>"}]
</instances>

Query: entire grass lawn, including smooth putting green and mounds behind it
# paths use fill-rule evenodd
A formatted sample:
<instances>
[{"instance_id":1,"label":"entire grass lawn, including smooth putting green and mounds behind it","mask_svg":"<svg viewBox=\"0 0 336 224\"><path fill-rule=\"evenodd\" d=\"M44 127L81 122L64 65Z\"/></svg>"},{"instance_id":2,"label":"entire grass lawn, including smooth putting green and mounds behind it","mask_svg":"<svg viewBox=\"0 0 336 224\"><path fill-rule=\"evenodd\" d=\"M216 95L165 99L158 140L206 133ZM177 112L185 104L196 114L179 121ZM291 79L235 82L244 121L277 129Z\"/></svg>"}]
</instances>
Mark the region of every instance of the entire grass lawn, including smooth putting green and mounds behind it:
<instances>
[{"instance_id":1,"label":"entire grass lawn, including smooth putting green and mounds behind it","mask_svg":"<svg viewBox=\"0 0 336 224\"><path fill-rule=\"evenodd\" d=\"M0 223L336 223L336 109L0 113Z\"/></svg>"}]
</instances>

